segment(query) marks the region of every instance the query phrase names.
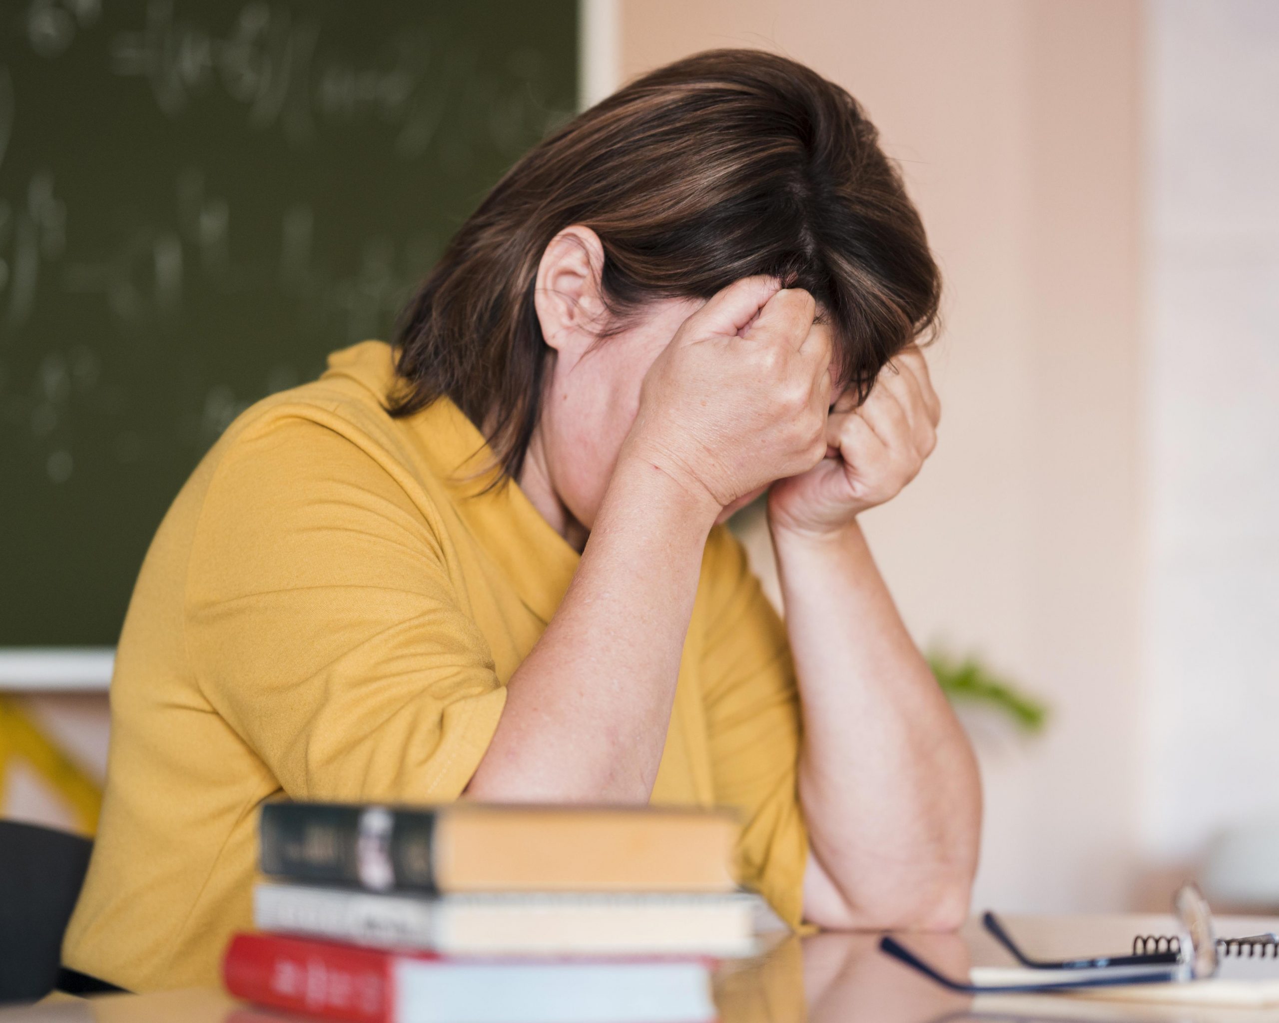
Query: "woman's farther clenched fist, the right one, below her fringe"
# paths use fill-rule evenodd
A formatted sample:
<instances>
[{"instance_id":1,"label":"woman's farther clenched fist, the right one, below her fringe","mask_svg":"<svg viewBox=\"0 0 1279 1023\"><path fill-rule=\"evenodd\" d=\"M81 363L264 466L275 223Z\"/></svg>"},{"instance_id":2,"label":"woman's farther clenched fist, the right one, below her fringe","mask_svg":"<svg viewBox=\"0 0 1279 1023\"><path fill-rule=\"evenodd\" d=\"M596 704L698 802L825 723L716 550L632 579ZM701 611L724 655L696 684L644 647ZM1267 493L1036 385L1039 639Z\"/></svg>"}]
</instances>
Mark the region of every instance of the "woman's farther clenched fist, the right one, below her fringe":
<instances>
[{"instance_id":1,"label":"woman's farther clenched fist, the right one, below her fringe","mask_svg":"<svg viewBox=\"0 0 1279 1023\"><path fill-rule=\"evenodd\" d=\"M918 345L881 371L861 407L840 395L826 421L826 458L769 491L774 529L811 537L839 532L897 496L932 454L941 403Z\"/></svg>"}]
</instances>

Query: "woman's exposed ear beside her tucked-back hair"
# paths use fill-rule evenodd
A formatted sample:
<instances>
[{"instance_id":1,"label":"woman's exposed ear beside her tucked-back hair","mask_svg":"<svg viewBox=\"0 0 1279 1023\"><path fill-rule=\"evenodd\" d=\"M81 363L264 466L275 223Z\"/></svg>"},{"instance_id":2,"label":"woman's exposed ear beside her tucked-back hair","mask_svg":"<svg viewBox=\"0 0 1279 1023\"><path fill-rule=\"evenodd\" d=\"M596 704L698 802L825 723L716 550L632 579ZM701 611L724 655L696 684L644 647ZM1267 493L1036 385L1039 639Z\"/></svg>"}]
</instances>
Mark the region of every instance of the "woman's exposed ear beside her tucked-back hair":
<instances>
[{"instance_id":1,"label":"woman's exposed ear beside her tucked-back hair","mask_svg":"<svg viewBox=\"0 0 1279 1023\"><path fill-rule=\"evenodd\" d=\"M561 355L578 358L595 343L604 320L602 269L600 237L581 224L561 230L542 252L533 308L542 338Z\"/></svg>"}]
</instances>

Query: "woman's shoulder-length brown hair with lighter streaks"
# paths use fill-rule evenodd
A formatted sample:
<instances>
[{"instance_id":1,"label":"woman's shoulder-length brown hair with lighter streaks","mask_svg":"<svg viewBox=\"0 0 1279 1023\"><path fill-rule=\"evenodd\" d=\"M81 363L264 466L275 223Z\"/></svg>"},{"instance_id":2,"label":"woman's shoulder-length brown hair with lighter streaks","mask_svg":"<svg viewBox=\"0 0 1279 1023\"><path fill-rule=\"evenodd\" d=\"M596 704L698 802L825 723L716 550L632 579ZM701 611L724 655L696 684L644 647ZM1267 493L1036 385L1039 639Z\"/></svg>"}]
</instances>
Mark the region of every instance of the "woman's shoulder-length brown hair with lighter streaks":
<instances>
[{"instance_id":1,"label":"woman's shoulder-length brown hair with lighter streaks","mask_svg":"<svg viewBox=\"0 0 1279 1023\"><path fill-rule=\"evenodd\" d=\"M712 50L636 79L506 173L404 309L393 414L450 398L519 476L553 354L537 266L572 224L600 238L616 317L755 274L807 289L859 398L938 313L923 225L857 101L793 60Z\"/></svg>"}]
</instances>

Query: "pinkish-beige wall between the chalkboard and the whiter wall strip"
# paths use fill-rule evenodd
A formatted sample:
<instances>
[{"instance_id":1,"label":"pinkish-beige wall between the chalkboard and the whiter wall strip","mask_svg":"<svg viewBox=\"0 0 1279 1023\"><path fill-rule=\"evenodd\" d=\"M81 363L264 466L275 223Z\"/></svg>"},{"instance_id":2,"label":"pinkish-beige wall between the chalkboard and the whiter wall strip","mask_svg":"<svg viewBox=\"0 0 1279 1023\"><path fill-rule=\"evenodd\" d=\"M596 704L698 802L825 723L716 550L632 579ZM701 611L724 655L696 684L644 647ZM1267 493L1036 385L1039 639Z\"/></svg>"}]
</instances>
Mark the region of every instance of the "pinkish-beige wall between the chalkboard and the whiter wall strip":
<instances>
[{"instance_id":1,"label":"pinkish-beige wall between the chalkboard and the whiter wall strip","mask_svg":"<svg viewBox=\"0 0 1279 1023\"><path fill-rule=\"evenodd\" d=\"M622 0L623 77L760 46L845 86L946 279L941 444L870 517L922 643L1045 694L981 726L977 903L1119 907L1136 844L1141 9L1132 0Z\"/></svg>"}]
</instances>

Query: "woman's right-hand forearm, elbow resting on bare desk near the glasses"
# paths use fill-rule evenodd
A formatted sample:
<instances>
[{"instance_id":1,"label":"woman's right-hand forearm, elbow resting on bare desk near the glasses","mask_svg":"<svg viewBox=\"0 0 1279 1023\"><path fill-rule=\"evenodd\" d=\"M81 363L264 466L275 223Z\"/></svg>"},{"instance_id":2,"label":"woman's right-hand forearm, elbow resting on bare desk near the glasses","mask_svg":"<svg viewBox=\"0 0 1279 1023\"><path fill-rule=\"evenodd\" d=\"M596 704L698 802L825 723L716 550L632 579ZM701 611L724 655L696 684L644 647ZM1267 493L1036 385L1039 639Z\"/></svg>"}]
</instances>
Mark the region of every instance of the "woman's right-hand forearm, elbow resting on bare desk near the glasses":
<instances>
[{"instance_id":1,"label":"woman's right-hand forearm, elbow resting on bare desk near the glasses","mask_svg":"<svg viewBox=\"0 0 1279 1023\"><path fill-rule=\"evenodd\" d=\"M804 909L836 927L952 927L977 863L981 785L856 522L774 529L804 740Z\"/></svg>"}]
</instances>

